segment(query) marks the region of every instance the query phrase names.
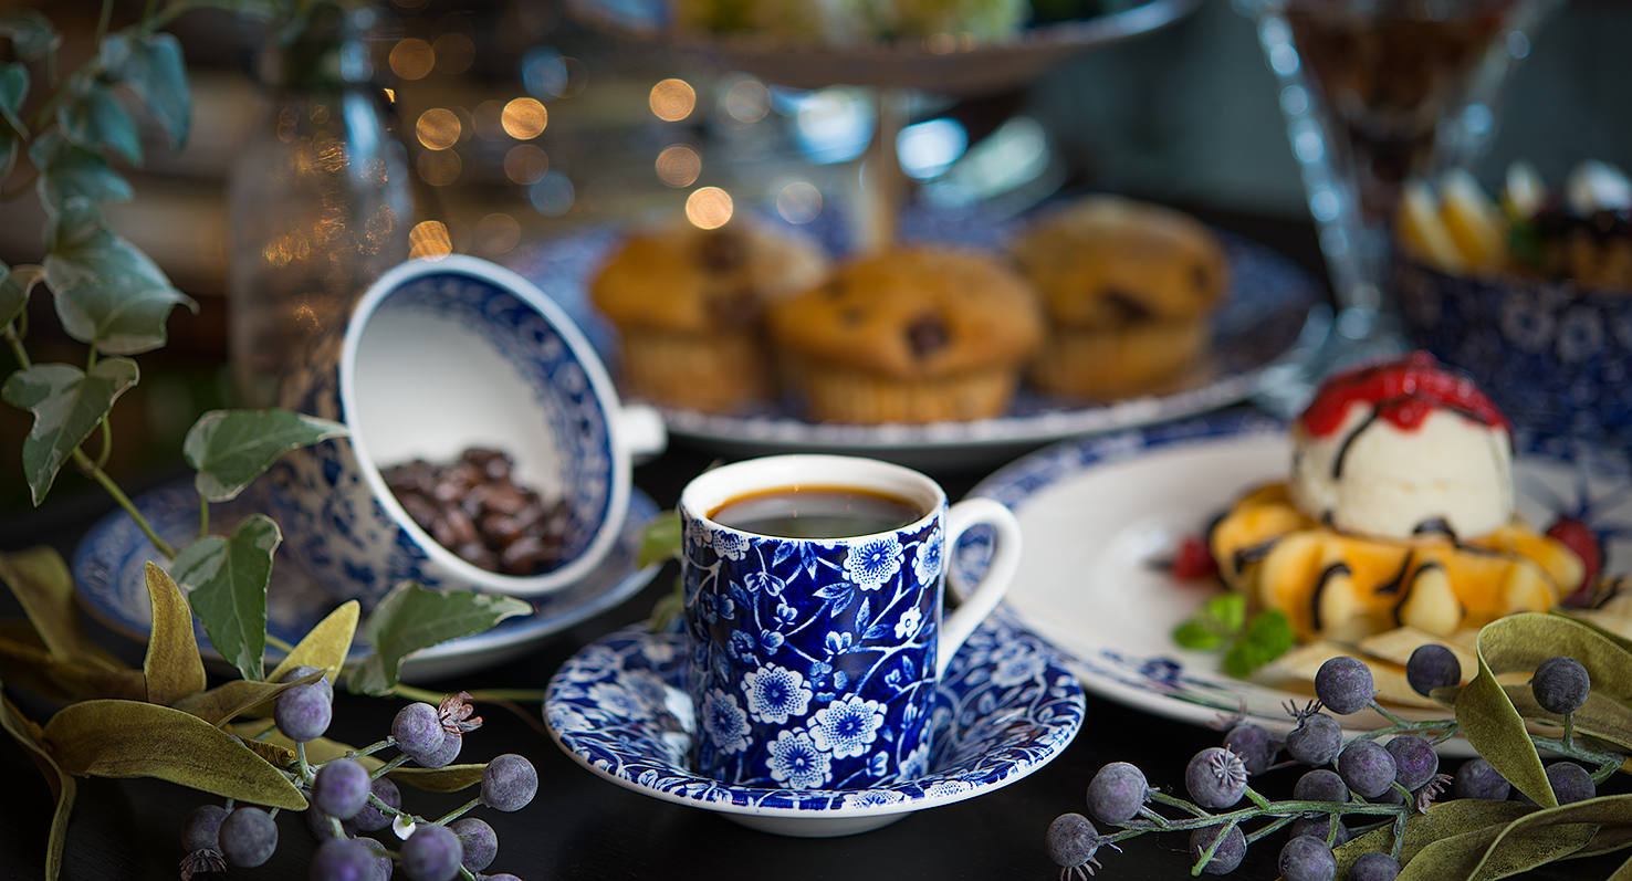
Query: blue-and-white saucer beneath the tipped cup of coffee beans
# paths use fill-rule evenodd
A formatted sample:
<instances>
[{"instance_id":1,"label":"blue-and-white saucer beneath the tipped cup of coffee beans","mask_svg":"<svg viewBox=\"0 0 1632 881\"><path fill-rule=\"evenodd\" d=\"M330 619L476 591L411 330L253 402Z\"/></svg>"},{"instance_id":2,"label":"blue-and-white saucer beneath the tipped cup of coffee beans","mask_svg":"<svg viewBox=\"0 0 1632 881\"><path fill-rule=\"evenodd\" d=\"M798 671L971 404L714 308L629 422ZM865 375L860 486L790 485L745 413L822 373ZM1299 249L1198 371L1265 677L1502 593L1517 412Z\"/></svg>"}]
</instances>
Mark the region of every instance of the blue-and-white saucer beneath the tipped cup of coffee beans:
<instances>
[{"instance_id":1,"label":"blue-and-white saucer beneath the tipped cup of coffee beans","mask_svg":"<svg viewBox=\"0 0 1632 881\"><path fill-rule=\"evenodd\" d=\"M268 511L268 494L277 489L269 481L258 480L237 499L211 506L211 524L230 530L240 519ZM186 542L197 530L199 502L191 480L165 485L135 499L137 511L168 542ZM493 667L530 651L539 641L584 618L612 609L640 592L658 566L635 566L640 551L641 527L656 516L658 506L640 489L630 491L628 514L617 545L605 560L586 578L553 594L529 597L532 615L506 618L485 633L449 640L421 649L403 661L403 682L428 682L463 675ZM147 561L162 563L147 535L122 511L103 517L73 551L73 584L80 604L109 628L147 641L153 628L152 607L147 599ZM266 631L287 643L297 643L313 625L323 620L338 602L323 592L294 563L279 555L273 564L273 581L266 587ZM204 626L193 622L199 649L206 659L220 669L227 662L209 644ZM353 643L346 661L362 661L374 649L362 641ZM269 661L282 653L266 649Z\"/></svg>"}]
</instances>

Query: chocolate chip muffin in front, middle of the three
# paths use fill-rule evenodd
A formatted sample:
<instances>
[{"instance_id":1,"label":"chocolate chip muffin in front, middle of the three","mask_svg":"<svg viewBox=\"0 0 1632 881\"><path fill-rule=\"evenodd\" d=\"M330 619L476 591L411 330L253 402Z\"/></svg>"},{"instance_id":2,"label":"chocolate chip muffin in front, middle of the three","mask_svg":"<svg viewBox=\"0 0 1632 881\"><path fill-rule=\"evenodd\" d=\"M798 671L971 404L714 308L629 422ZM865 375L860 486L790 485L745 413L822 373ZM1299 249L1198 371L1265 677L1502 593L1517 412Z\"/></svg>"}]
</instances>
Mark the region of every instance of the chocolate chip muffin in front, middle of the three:
<instances>
[{"instance_id":1,"label":"chocolate chip muffin in front, middle of the three","mask_svg":"<svg viewBox=\"0 0 1632 881\"><path fill-rule=\"evenodd\" d=\"M1043 317L999 259L912 248L772 303L769 330L813 419L932 423L1002 414Z\"/></svg>"}]
</instances>

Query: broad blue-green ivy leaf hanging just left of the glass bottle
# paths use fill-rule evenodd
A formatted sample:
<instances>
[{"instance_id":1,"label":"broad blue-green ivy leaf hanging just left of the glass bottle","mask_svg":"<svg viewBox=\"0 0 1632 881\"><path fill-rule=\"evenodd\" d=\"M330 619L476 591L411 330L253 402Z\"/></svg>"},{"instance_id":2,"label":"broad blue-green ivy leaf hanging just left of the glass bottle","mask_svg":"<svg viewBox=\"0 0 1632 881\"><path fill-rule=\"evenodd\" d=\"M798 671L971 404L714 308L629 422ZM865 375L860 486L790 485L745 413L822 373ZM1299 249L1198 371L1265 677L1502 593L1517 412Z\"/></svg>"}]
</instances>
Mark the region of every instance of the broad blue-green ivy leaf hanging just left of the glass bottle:
<instances>
[{"instance_id":1,"label":"broad blue-green ivy leaf hanging just left of the glass bottle","mask_svg":"<svg viewBox=\"0 0 1632 881\"><path fill-rule=\"evenodd\" d=\"M170 286L147 255L114 233L85 197L62 204L46 230L46 281L62 330L104 352L137 354L165 344L176 303L197 303Z\"/></svg>"}]
</instances>

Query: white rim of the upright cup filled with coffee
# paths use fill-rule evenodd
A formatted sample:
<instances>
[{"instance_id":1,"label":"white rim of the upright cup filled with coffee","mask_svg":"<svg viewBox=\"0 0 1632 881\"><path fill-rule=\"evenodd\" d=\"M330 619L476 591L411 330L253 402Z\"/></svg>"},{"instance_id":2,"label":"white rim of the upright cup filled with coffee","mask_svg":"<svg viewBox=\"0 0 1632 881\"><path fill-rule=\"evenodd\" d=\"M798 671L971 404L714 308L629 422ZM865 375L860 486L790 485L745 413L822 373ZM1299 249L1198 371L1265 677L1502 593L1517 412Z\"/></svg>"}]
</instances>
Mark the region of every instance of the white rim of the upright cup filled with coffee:
<instances>
[{"instance_id":1,"label":"white rim of the upright cup filled with coffee","mask_svg":"<svg viewBox=\"0 0 1632 881\"><path fill-rule=\"evenodd\" d=\"M925 511L917 520L896 529L867 535L805 538L808 542L849 543L878 535L893 535L896 532L917 532L947 511L947 491L922 471L880 458L824 454L767 455L703 471L692 478L685 485L685 489L681 491L681 509L697 520L708 524L708 529L764 537L757 532L728 527L712 519L708 512L716 511L721 504L738 496L798 485L855 486L858 489L893 493ZM800 538L788 540L798 542Z\"/></svg>"}]
</instances>

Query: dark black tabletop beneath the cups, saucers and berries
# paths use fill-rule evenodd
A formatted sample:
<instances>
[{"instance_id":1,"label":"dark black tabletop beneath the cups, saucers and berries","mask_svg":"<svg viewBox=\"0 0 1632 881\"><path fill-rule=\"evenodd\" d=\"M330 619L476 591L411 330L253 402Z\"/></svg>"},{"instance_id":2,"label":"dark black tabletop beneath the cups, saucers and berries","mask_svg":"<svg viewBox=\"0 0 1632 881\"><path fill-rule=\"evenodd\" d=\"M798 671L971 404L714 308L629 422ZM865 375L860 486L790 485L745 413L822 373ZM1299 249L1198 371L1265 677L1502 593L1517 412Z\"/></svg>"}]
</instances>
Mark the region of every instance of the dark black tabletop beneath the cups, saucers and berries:
<instances>
[{"instance_id":1,"label":"dark black tabletop beneath the cups, saucers and berries","mask_svg":"<svg viewBox=\"0 0 1632 881\"><path fill-rule=\"evenodd\" d=\"M1203 212L1206 215L1206 212ZM1320 272L1312 232L1299 224L1258 222L1208 215L1209 220L1258 238L1288 253L1312 272ZM707 450L676 445L636 470L636 483L659 506L671 507L681 488L713 462ZM0 463L0 467L15 467ZM935 473L950 498L960 498L991 468ZM152 475L129 489L173 480L183 473ZM47 502L38 512L0 517L0 550L52 543L67 556L96 517L111 509L96 491ZM573 626L540 644L532 654L498 669L457 680L426 684L450 692L460 688L542 688L552 672L579 648L604 633L643 620L653 602L674 581L669 564L653 584L597 618ZM18 605L0 591L0 617L18 615ZM142 648L91 625L93 635L139 664ZM49 715L28 695L11 693L36 719ZM335 698L331 737L366 744L388 734L400 702L339 693ZM527 705L516 715L493 705L480 706L483 728L465 739L465 760L504 752L526 755L539 768L537 799L514 814L478 809L499 837L499 855L490 871L509 871L529 881L543 879L733 879L777 881L901 881L901 879L997 879L1049 881L1058 878L1043 847L1049 822L1084 811L1089 780L1106 762L1139 765L1157 786L1183 790L1190 755L1214 746L1219 734L1204 728L1151 716L1089 697L1087 721L1075 741L1031 777L979 798L920 811L862 835L840 839L788 839L754 832L718 814L669 804L612 785L579 767L543 733L540 708ZM1297 770L1271 772L1255 786L1289 796ZM439 816L468 798L434 796L405 788L406 808ZM155 780L82 778L67 839L62 878L70 881L173 879L183 857L183 817L211 796ZM51 826L51 796L34 765L10 739L0 741L0 879L42 876L44 840ZM315 842L299 816L279 817L276 857L255 870L232 870L230 878L299 879ZM388 835L388 834L387 834ZM1248 850L1234 878L1270 881L1283 835ZM1102 878L1178 879L1188 873L1185 834L1142 835L1124 842L1123 853L1102 850ZM1529 878L1608 878L1619 858L1583 860L1547 866Z\"/></svg>"}]
</instances>

